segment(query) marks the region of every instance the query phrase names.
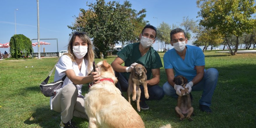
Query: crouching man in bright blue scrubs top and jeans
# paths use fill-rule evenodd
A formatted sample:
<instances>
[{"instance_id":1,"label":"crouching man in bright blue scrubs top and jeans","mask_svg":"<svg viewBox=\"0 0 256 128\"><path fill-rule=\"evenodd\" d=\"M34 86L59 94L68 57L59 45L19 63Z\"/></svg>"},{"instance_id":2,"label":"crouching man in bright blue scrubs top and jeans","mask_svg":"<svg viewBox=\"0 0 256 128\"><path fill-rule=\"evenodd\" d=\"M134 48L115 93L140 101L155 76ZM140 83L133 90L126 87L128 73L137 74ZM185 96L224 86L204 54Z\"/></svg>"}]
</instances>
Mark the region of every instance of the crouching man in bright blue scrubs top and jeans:
<instances>
[{"instance_id":1,"label":"crouching man in bright blue scrubs top and jeans","mask_svg":"<svg viewBox=\"0 0 256 128\"><path fill-rule=\"evenodd\" d=\"M203 90L199 108L201 111L211 113L211 98L218 81L218 70L215 68L205 70L205 55L199 47L186 45L188 39L184 30L173 29L170 38L170 43L174 48L163 56L168 80L163 84L165 94L171 97L181 96L180 90L184 88L176 85L173 78L182 75L188 79L185 88L188 88L189 92Z\"/></svg>"}]
</instances>

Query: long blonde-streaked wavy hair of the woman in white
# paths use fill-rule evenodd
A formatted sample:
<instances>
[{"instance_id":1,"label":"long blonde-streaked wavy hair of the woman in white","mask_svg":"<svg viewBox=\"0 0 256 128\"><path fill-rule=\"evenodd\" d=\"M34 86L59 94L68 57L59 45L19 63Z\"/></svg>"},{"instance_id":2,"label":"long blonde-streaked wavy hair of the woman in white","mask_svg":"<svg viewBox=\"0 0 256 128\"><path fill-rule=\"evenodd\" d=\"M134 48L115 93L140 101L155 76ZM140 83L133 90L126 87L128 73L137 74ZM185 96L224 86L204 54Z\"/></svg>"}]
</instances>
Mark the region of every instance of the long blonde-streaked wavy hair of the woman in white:
<instances>
[{"instance_id":1,"label":"long blonde-streaked wavy hair of the woman in white","mask_svg":"<svg viewBox=\"0 0 256 128\"><path fill-rule=\"evenodd\" d=\"M65 53L64 55L69 56L73 62L75 61L76 56L73 52L73 42L75 41L77 36L80 38L80 40L82 40L83 42L86 42L88 45L88 51L83 58L88 60L87 71L90 72L93 69L93 61L94 61L95 53L93 51L93 43L91 42L90 38L87 36L87 33L73 32L70 35L69 43L67 45L67 53Z\"/></svg>"}]
</instances>

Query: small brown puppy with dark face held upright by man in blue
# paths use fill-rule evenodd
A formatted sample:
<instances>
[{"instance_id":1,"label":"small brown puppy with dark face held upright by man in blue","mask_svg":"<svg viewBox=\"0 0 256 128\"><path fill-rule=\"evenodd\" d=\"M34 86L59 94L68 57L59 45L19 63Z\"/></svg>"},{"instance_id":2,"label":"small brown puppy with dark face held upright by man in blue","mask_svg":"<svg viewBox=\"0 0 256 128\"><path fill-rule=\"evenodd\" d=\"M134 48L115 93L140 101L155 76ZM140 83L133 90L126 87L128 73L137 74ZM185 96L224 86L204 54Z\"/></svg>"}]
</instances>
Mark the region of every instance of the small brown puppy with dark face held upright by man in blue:
<instances>
[{"instance_id":1,"label":"small brown puppy with dark face held upright by man in blue","mask_svg":"<svg viewBox=\"0 0 256 128\"><path fill-rule=\"evenodd\" d=\"M184 120L185 116L189 121L193 121L191 115L194 111L194 108L191 106L191 99L189 95L188 88L185 88L188 80L179 75L173 79L175 84L182 86L185 90L180 90L182 96L178 96L177 106L175 107L175 112L179 118L179 120Z\"/></svg>"}]
</instances>

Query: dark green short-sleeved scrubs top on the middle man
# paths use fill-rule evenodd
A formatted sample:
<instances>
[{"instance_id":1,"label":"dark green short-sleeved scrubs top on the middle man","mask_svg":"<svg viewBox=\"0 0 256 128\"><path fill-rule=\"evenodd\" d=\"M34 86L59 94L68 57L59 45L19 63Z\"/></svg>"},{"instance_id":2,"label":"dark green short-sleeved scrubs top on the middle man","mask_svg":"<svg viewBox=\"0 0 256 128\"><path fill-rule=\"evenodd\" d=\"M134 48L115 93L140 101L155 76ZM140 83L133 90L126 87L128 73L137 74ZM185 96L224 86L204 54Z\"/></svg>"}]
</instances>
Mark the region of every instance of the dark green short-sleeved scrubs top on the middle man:
<instances>
[{"instance_id":1,"label":"dark green short-sleeved scrubs top on the middle man","mask_svg":"<svg viewBox=\"0 0 256 128\"><path fill-rule=\"evenodd\" d=\"M163 67L162 61L153 47L150 47L149 51L147 51L144 56L141 56L139 44L140 42L126 45L117 55L125 62L125 66L127 67L131 66L133 63L143 65L147 70L147 80L149 80L152 74L151 69ZM125 76L126 79L129 79L130 72L121 72L121 74Z\"/></svg>"}]
</instances>

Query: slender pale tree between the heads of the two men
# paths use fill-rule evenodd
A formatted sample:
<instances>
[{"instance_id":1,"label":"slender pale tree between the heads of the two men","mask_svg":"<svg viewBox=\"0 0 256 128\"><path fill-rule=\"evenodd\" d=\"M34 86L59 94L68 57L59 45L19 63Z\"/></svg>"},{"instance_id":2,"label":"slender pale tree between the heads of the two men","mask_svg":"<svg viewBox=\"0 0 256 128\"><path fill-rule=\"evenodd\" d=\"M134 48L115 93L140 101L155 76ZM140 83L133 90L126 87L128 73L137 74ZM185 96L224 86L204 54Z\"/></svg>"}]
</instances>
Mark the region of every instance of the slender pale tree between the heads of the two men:
<instances>
[{"instance_id":1,"label":"slender pale tree between the heads of the two men","mask_svg":"<svg viewBox=\"0 0 256 128\"><path fill-rule=\"evenodd\" d=\"M162 22L157 28L157 40L161 42L161 45L165 44L164 49L167 44L170 44L170 31L170 25L165 22Z\"/></svg>"}]
</instances>

